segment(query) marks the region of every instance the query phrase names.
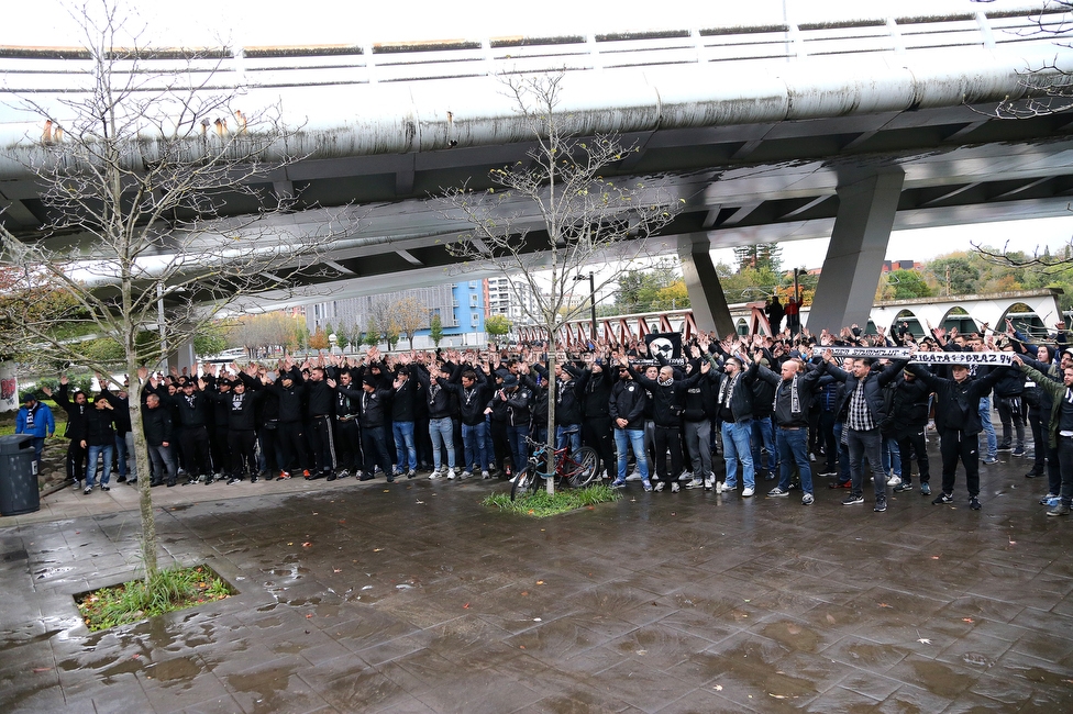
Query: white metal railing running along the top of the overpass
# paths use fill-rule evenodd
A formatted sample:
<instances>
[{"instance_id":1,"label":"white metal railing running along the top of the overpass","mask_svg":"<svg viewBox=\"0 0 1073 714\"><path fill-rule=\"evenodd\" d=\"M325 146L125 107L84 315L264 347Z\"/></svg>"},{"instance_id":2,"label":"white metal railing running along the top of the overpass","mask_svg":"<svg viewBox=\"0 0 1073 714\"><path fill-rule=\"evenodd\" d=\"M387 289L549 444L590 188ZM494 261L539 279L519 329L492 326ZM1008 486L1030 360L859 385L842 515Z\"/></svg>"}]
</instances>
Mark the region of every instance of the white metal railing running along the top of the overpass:
<instances>
[{"instance_id":1,"label":"white metal railing running along the top of the overpass","mask_svg":"<svg viewBox=\"0 0 1073 714\"><path fill-rule=\"evenodd\" d=\"M490 37L367 45L239 47L191 58L157 49L143 72L212 74L219 86L286 88L480 77L501 72L604 70L706 63L785 64L805 57L904 54L955 47L1053 44L1073 14L1061 7L837 23L682 27L638 33ZM128 63L133 68L133 63ZM89 57L77 48L0 46L4 91L78 87ZM146 87L146 89L150 89Z\"/></svg>"}]
</instances>

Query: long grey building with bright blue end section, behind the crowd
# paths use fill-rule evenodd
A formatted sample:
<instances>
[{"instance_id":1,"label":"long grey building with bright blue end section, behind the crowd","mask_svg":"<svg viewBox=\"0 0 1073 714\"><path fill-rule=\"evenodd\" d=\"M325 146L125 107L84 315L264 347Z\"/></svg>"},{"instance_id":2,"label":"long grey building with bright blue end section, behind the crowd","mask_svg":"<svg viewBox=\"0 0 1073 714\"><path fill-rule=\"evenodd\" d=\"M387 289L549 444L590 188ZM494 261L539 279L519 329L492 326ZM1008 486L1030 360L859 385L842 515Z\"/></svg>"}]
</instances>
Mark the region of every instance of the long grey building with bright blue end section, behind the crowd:
<instances>
[{"instance_id":1,"label":"long grey building with bright blue end section, behind the crowd","mask_svg":"<svg viewBox=\"0 0 1073 714\"><path fill-rule=\"evenodd\" d=\"M330 327L336 334L346 336L347 344L354 345L364 339L369 324L383 325L391 320L392 312L406 298L413 298L424 309L423 325L414 335L414 349L431 349L429 336L432 315L440 315L443 327L441 347L483 346L487 343L485 334L487 288L484 280L466 280L453 285L432 288L412 288L398 292L361 298L345 298L318 302L306 306L306 326L310 334L319 328ZM385 342L380 343L381 346ZM399 346L407 347L406 338Z\"/></svg>"}]
</instances>

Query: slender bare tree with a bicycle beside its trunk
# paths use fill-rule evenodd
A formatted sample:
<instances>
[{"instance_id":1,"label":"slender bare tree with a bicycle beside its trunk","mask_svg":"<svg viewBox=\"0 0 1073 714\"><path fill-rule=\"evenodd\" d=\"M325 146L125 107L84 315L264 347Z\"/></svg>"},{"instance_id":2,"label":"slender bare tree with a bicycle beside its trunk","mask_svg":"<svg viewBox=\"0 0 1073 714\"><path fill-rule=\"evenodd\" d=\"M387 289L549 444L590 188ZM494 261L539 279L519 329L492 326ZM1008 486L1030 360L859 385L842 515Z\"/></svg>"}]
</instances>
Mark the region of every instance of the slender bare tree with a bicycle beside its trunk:
<instances>
[{"instance_id":1,"label":"slender bare tree with a bicycle beside its trunk","mask_svg":"<svg viewBox=\"0 0 1073 714\"><path fill-rule=\"evenodd\" d=\"M613 134L579 137L574 118L561 109L564 77L505 77L507 93L535 140L529 160L493 169L497 188L441 189L440 199L446 217L468 225L450 248L466 265L491 265L510 277L518 302L547 335L549 472L554 472L556 334L585 309L571 300L574 278L590 265L629 265L678 212L678 201L659 181L605 177L637 149L623 147ZM602 280L597 292L613 279ZM531 303L518 294L518 283L532 293ZM546 484L552 493L554 479Z\"/></svg>"}]
</instances>

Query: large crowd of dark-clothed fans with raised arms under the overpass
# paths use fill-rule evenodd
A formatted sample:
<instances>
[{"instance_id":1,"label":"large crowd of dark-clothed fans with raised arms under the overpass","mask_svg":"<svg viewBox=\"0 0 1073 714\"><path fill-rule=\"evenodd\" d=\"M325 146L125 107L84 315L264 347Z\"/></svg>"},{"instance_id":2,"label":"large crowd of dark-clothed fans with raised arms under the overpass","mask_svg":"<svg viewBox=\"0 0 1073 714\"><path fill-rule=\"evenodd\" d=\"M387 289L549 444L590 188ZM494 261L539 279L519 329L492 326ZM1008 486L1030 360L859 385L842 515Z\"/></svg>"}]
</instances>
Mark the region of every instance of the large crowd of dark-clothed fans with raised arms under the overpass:
<instances>
[{"instance_id":1,"label":"large crowd of dark-clothed fans with raised arms under the overpass","mask_svg":"<svg viewBox=\"0 0 1073 714\"><path fill-rule=\"evenodd\" d=\"M844 505L865 502L867 476L873 509L883 512L888 490L932 493L933 431L942 462L932 503L954 501L961 464L969 505L980 510L980 464L995 464L1003 450L1027 457L1030 425L1026 477L1046 476L1040 502L1049 515L1064 515L1073 497L1064 473L1073 472L1073 348L1061 323L1039 341L1006 327L937 328L920 339L906 325L892 335L864 335L856 325L819 335L701 333L682 339L681 357L671 359L643 341L574 344L551 375L543 343L505 352L370 348L301 364L286 357L166 376L142 369L131 394L103 389L91 402L70 393L66 377L55 394L43 391L67 412L67 476L87 494L98 483L109 489L113 459L119 481L137 478L132 395L142 404L154 487L381 473L388 482L509 479L527 468L529 439L546 440L554 379L555 440L596 449L612 488L635 480L644 491L684 486L750 498L768 481L767 497L797 490L811 505L815 468ZM19 431L35 435L38 455L54 429L47 406L27 395Z\"/></svg>"}]
</instances>

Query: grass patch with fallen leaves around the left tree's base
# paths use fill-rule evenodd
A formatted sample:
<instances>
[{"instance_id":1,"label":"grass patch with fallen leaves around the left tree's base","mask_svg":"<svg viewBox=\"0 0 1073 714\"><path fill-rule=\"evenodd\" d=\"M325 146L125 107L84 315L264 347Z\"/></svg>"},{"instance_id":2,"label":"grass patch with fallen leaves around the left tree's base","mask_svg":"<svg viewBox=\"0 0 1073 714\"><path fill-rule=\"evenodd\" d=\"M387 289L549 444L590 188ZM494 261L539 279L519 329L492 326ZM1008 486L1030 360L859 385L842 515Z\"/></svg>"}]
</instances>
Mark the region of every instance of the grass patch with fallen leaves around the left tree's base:
<instances>
[{"instance_id":1,"label":"grass patch with fallen leaves around the left tree's base","mask_svg":"<svg viewBox=\"0 0 1073 714\"><path fill-rule=\"evenodd\" d=\"M223 600L235 590L208 566L161 570L150 582L132 580L76 595L90 631L107 629L176 610Z\"/></svg>"}]
</instances>

